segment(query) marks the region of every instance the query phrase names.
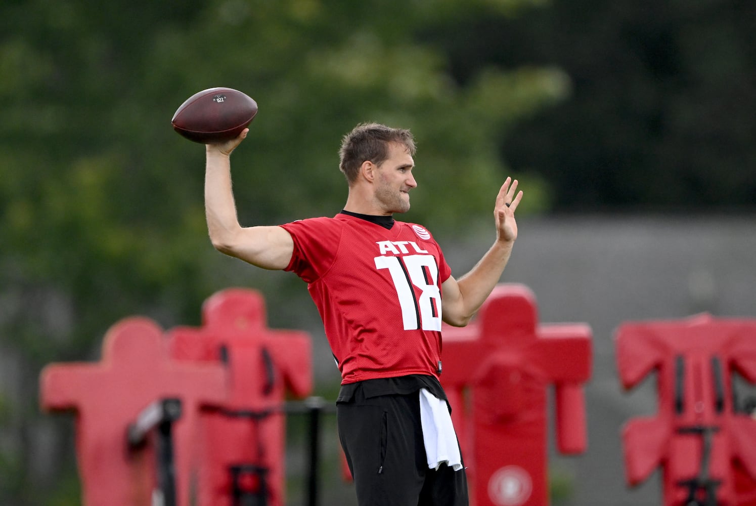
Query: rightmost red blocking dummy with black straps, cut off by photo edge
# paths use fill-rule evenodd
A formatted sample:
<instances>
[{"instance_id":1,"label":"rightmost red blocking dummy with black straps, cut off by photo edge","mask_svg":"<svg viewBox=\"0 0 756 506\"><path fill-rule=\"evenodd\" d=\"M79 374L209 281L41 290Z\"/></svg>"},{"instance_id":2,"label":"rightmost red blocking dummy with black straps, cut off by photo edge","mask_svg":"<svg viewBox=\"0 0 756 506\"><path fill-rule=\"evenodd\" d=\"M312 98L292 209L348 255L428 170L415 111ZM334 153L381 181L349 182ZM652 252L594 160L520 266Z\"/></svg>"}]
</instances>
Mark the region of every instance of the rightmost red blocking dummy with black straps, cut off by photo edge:
<instances>
[{"instance_id":1,"label":"rightmost red blocking dummy with black straps, cut off by photo edge","mask_svg":"<svg viewBox=\"0 0 756 506\"><path fill-rule=\"evenodd\" d=\"M663 504L754 504L756 420L733 406L732 375L756 383L756 320L627 322L616 351L625 389L657 377L655 416L622 429L627 483L661 467Z\"/></svg>"}]
</instances>

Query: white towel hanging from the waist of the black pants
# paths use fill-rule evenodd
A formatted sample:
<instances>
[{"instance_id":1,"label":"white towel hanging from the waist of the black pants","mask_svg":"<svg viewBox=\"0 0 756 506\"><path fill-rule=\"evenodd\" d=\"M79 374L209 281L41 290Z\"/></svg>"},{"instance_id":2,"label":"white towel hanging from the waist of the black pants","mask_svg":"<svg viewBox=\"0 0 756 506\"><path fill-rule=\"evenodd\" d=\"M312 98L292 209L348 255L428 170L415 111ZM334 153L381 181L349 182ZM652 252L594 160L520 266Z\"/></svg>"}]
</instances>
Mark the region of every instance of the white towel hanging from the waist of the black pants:
<instances>
[{"instance_id":1,"label":"white towel hanging from the waist of the black pants","mask_svg":"<svg viewBox=\"0 0 756 506\"><path fill-rule=\"evenodd\" d=\"M455 471L462 469L462 456L448 405L424 388L420 389L420 424L423 425L428 467L438 469L446 463Z\"/></svg>"}]
</instances>

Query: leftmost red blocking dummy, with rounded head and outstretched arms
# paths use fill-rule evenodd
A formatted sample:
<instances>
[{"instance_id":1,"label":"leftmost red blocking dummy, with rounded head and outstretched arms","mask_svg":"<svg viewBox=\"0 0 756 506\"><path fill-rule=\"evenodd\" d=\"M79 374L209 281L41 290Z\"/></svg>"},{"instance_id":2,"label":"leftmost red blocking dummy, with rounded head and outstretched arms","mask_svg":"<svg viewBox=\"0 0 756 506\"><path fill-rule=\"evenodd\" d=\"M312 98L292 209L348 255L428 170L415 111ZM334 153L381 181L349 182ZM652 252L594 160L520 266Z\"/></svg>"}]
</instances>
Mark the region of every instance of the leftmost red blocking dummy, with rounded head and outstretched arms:
<instances>
[{"instance_id":1,"label":"leftmost red blocking dummy, with rounded head and outstretched arms","mask_svg":"<svg viewBox=\"0 0 756 506\"><path fill-rule=\"evenodd\" d=\"M40 377L42 408L76 413L76 455L85 506L144 506L156 486L154 448L130 452L126 431L159 399L181 400L173 430L178 504L189 504L186 452L196 437L201 406L225 398L217 364L171 359L163 332L147 318L126 318L104 338L95 363L51 364Z\"/></svg>"}]
</instances>

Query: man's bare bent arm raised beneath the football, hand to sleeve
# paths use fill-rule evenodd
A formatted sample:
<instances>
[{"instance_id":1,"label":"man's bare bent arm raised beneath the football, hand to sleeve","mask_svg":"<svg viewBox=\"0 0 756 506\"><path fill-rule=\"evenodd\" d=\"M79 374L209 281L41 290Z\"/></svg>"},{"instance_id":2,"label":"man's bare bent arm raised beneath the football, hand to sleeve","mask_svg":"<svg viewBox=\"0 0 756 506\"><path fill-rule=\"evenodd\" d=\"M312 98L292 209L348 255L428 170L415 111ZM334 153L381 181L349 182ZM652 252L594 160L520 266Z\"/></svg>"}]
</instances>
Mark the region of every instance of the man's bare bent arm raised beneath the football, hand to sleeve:
<instances>
[{"instance_id":1,"label":"man's bare bent arm raised beneath the football, hand to sleeve","mask_svg":"<svg viewBox=\"0 0 756 506\"><path fill-rule=\"evenodd\" d=\"M206 145L205 216L216 250L263 269L285 269L294 251L289 232L278 226L239 225L231 189L231 151L246 137Z\"/></svg>"}]
</instances>

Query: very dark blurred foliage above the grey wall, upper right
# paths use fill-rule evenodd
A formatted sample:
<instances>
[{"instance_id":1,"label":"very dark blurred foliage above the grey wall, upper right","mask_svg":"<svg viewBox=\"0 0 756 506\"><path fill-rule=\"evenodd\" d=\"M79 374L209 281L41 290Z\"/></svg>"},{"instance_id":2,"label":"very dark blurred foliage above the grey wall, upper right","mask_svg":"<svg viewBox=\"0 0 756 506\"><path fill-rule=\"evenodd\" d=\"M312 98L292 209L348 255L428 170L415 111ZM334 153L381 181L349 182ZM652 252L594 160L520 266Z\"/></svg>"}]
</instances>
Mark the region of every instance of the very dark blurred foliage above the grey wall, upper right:
<instances>
[{"instance_id":1,"label":"very dark blurred foliage above the grey wall, upper right","mask_svg":"<svg viewBox=\"0 0 756 506\"><path fill-rule=\"evenodd\" d=\"M570 76L568 100L501 143L515 169L553 185L554 211L752 213L754 19L748 0L553 0L516 19L463 17L432 39L461 82L489 64Z\"/></svg>"}]
</instances>

